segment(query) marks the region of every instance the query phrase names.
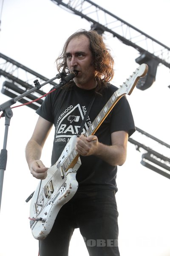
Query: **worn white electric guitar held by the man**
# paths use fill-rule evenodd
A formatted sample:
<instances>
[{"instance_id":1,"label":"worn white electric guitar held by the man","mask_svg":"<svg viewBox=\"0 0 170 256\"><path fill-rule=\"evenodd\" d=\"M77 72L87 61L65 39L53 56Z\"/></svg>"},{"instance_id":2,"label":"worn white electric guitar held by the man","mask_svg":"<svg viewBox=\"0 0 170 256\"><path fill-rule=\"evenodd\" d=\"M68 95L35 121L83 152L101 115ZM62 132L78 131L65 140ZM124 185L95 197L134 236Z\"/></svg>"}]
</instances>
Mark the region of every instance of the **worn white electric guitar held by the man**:
<instances>
[{"instance_id":1,"label":"worn white electric guitar held by the man","mask_svg":"<svg viewBox=\"0 0 170 256\"><path fill-rule=\"evenodd\" d=\"M140 77L146 75L148 67L140 65L135 72L111 96L102 111L85 132L85 136L94 135L119 99L130 95ZM57 163L48 169L48 176L41 180L34 192L30 206L30 227L35 239L45 239L53 227L61 207L76 193L78 182L76 172L81 165L79 154L74 148L77 136L71 137Z\"/></svg>"}]
</instances>

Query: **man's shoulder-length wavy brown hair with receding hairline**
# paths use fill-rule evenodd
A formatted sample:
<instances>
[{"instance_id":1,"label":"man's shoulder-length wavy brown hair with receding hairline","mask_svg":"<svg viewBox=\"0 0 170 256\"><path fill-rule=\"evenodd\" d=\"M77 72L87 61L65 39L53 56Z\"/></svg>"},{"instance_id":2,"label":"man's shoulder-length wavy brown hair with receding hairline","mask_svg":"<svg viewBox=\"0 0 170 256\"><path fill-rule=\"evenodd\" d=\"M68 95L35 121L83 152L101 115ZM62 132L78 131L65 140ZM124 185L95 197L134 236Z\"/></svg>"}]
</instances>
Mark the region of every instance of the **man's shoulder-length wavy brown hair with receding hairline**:
<instances>
[{"instance_id":1,"label":"man's shoulder-length wavy brown hair with receding hairline","mask_svg":"<svg viewBox=\"0 0 170 256\"><path fill-rule=\"evenodd\" d=\"M106 86L107 82L111 81L114 76L113 64L114 60L103 42L103 38L96 31L85 29L78 30L73 35L71 35L64 44L60 56L56 59L57 70L59 72L64 71L66 74L69 73L67 66L67 58L65 55L66 49L69 42L73 38L77 38L81 35L85 35L90 41L90 50L93 56L93 65L96 70L96 81L97 81L97 91L100 91L102 87Z\"/></svg>"}]
</instances>

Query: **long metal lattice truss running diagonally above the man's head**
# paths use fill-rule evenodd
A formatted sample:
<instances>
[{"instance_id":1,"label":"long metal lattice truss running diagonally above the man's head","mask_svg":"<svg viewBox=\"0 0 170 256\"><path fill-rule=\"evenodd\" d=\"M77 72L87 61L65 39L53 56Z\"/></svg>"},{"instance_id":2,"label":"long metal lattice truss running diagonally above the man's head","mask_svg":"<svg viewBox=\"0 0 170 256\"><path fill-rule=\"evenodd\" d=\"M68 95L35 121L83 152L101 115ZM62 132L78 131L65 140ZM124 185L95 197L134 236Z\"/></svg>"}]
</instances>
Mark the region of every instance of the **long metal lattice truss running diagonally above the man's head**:
<instances>
[{"instance_id":1,"label":"long metal lattice truss running diagonally above the man's head","mask_svg":"<svg viewBox=\"0 0 170 256\"><path fill-rule=\"evenodd\" d=\"M90 0L51 0L68 12L88 20L102 32L110 32L122 43L170 68L170 48Z\"/></svg>"}]
</instances>

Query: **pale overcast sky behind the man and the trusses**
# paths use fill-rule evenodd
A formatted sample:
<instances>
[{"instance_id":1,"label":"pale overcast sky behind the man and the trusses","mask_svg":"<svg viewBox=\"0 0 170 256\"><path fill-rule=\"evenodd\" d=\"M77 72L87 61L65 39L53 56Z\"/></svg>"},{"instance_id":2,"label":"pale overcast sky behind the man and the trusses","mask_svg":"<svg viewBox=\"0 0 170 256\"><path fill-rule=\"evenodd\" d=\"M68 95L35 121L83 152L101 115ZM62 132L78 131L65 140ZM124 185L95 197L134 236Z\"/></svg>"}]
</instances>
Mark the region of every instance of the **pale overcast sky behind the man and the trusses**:
<instances>
[{"instance_id":1,"label":"pale overcast sky behind the man and the trusses","mask_svg":"<svg viewBox=\"0 0 170 256\"><path fill-rule=\"evenodd\" d=\"M170 46L170 1L94 1L159 42ZM0 7L2 6L2 0ZM51 0L4 0L0 26L0 52L48 79L56 75L55 59L65 40L78 29L91 24L54 4ZM115 59L113 84L119 87L139 66L139 52L105 34L105 42ZM1 62L0 62L1 63ZM5 78L0 78L0 90ZM56 81L57 82L57 81ZM133 90L127 99L136 126L170 145L170 70L159 65L156 82L147 90ZM43 90L48 90L45 87ZM9 98L0 93L0 104ZM0 256L38 256L38 242L29 227L26 198L38 180L25 160L26 143L31 137L37 114L23 106L13 110L8 133L8 160L3 181L0 210ZM0 119L0 149L3 147L4 118ZM137 132L134 140L170 156L167 148L152 143ZM53 132L42 153L50 166ZM170 256L170 180L142 166L142 153L128 143L126 163L118 168L116 200L119 211L119 250L121 256ZM88 256L85 244L75 230L69 256Z\"/></svg>"}]
</instances>

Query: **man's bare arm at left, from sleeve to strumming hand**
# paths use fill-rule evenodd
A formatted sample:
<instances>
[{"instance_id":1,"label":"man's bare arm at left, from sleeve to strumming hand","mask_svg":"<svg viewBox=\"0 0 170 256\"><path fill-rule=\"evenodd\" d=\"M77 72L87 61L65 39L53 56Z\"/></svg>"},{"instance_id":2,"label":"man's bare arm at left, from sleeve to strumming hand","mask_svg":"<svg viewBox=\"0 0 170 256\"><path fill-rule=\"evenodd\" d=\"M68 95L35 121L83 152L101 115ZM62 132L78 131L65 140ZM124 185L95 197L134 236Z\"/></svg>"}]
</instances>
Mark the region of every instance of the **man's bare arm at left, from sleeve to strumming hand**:
<instances>
[{"instance_id":1,"label":"man's bare arm at left, from sleeve to strumming hand","mask_svg":"<svg viewBox=\"0 0 170 256\"><path fill-rule=\"evenodd\" d=\"M26 145L26 160L31 174L37 179L45 179L47 170L40 160L42 148L52 128L52 123L39 117L31 139Z\"/></svg>"}]
</instances>

